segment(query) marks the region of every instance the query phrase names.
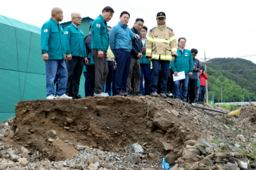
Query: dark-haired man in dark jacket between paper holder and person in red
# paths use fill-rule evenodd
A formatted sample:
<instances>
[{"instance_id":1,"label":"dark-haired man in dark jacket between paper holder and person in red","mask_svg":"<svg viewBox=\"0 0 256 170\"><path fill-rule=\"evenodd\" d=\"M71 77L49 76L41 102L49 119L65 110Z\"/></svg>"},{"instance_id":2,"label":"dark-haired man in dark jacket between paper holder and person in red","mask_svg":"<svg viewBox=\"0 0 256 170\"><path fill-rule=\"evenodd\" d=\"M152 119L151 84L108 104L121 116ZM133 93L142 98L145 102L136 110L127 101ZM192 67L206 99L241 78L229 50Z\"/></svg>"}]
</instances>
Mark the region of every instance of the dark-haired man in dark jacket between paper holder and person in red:
<instances>
[{"instance_id":1,"label":"dark-haired man in dark jacket between paper holder and person in red","mask_svg":"<svg viewBox=\"0 0 256 170\"><path fill-rule=\"evenodd\" d=\"M191 54L193 57L193 75L189 77L189 84L187 86L187 99L189 97L189 103L192 105L195 105L195 95L197 93L197 80L198 80L198 72L201 70L201 64L200 61L195 58L197 56L198 50L197 49L191 49Z\"/></svg>"}]
</instances>

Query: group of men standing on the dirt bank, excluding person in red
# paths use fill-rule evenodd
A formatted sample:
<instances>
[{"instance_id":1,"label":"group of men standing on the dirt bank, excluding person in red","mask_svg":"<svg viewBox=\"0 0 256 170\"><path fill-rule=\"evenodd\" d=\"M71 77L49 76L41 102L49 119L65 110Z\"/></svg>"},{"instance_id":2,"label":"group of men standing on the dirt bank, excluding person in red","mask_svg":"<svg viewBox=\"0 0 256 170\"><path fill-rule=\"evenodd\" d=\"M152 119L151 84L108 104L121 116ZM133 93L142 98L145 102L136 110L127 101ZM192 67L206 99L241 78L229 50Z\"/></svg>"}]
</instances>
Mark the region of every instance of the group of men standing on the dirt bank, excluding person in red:
<instances>
[{"instance_id":1,"label":"group of men standing on the dirt bank, excluding person in red","mask_svg":"<svg viewBox=\"0 0 256 170\"><path fill-rule=\"evenodd\" d=\"M79 13L71 14L72 23L64 30L59 24L63 12L60 8L53 8L52 17L41 30L47 99L82 98L78 94L79 83L83 67L84 70L86 67L85 97L109 97L112 91L113 95L151 93L152 97L167 98L173 91L175 99L187 101L189 85L195 89L189 89L190 103L194 103L200 62L192 51L185 49L185 38L177 42L173 30L165 23L165 13L157 13L156 27L149 31L147 38L147 27L142 18L137 18L130 29L127 25L130 14L124 11L118 24L111 28L107 22L113 14L114 10L106 6L84 38L79 29L82 19ZM181 71L185 71L186 78L173 82L171 75L177 76ZM58 83L56 97L54 80Z\"/></svg>"}]
</instances>

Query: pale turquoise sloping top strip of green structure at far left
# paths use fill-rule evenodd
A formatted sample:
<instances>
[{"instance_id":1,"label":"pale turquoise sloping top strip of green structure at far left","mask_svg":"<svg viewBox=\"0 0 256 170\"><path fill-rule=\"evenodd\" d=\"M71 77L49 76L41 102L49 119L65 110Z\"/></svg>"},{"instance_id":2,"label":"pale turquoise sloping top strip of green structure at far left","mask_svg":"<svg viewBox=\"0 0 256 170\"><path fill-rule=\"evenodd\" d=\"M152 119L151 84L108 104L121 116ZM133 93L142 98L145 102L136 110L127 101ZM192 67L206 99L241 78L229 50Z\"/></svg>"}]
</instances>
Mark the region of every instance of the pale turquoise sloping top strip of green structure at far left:
<instances>
[{"instance_id":1,"label":"pale turquoise sloping top strip of green structure at far left","mask_svg":"<svg viewBox=\"0 0 256 170\"><path fill-rule=\"evenodd\" d=\"M27 23L24 23L24 22L20 22L16 19L8 18L8 17L5 17L3 15L0 15L0 24L5 24L5 25L12 26L12 27L21 28L23 30L27 30L27 31L30 31L30 32L35 32L35 33L41 34L41 28L40 27L30 25L30 24L27 24Z\"/></svg>"}]
</instances>

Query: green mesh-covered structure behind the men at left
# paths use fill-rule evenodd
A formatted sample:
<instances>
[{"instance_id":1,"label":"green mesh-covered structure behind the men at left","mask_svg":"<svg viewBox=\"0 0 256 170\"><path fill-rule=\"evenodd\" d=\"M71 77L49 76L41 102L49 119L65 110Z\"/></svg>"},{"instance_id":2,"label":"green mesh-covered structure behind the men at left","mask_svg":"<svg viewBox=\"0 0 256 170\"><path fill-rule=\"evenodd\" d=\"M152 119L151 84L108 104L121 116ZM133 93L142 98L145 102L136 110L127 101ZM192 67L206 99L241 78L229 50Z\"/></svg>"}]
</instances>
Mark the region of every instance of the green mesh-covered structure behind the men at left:
<instances>
[{"instance_id":1,"label":"green mesh-covered structure behind the men at left","mask_svg":"<svg viewBox=\"0 0 256 170\"><path fill-rule=\"evenodd\" d=\"M86 36L89 21L80 26ZM45 62L41 54L41 28L0 15L0 121L15 116L21 100L46 98ZM84 96L84 76L79 94Z\"/></svg>"}]
</instances>

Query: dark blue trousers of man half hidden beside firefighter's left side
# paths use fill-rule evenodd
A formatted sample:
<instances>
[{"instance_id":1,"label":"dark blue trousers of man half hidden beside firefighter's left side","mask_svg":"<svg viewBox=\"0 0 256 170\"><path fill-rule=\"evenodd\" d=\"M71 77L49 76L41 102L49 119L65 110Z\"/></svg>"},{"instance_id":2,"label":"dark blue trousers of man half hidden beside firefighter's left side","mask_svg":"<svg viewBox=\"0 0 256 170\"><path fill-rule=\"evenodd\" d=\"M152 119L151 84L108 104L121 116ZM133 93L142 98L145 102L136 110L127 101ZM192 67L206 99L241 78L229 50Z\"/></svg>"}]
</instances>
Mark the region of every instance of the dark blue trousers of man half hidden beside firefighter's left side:
<instances>
[{"instance_id":1,"label":"dark blue trousers of man half hidden beside firefighter's left side","mask_svg":"<svg viewBox=\"0 0 256 170\"><path fill-rule=\"evenodd\" d=\"M141 66L141 82L140 82L140 93L144 95L149 94L150 87L150 64L140 64ZM143 77L145 80L143 88Z\"/></svg>"}]
</instances>

